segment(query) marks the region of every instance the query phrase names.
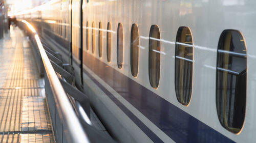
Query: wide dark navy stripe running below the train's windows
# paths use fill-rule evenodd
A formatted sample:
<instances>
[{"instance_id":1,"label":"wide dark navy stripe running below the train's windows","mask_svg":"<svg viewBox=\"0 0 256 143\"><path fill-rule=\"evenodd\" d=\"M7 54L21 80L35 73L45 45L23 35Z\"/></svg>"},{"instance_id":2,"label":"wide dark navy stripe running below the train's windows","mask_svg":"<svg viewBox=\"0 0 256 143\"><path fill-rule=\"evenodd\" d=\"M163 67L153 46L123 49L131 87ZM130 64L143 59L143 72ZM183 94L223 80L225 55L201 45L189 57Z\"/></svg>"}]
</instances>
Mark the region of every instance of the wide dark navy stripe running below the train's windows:
<instances>
[{"instance_id":1,"label":"wide dark navy stripe running below the train's windows","mask_svg":"<svg viewBox=\"0 0 256 143\"><path fill-rule=\"evenodd\" d=\"M84 64L87 67L108 83L117 93L136 107L147 119L153 122L174 141L233 142L231 139L161 98L141 84L98 60L93 55L87 52L84 52L83 55L85 58ZM83 71L88 74L86 70ZM90 74L88 75L92 77ZM95 82L94 78L92 78L92 80ZM104 88L99 82L95 83L99 87ZM102 91L105 92L108 90L104 89ZM111 93L108 92L106 94L109 95ZM117 105L120 107L119 104ZM132 117L130 118L132 119ZM137 125L140 124L136 121L134 122ZM147 134L147 132L145 133ZM150 136L149 134L147 135Z\"/></svg>"}]
</instances>

